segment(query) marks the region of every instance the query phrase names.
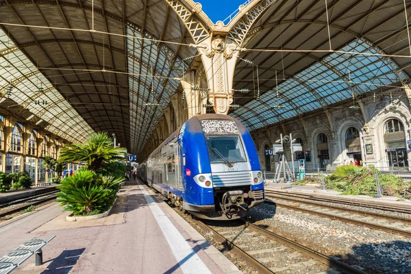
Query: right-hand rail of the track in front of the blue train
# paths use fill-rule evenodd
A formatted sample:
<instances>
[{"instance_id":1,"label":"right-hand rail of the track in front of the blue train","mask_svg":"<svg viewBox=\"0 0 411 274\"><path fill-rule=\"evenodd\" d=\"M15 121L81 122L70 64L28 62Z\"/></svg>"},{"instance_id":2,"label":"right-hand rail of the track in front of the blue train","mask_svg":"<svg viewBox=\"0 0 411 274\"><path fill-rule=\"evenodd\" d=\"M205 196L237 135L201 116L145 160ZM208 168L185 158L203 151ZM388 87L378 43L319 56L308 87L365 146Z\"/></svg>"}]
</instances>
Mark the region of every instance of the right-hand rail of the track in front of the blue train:
<instances>
[{"instance_id":1,"label":"right-hand rail of the track in front of the blue train","mask_svg":"<svg viewBox=\"0 0 411 274\"><path fill-rule=\"evenodd\" d=\"M367 274L366 272L360 269L356 269L355 267L350 266L349 264L345 264L345 262L340 262L339 260L336 260L323 253L320 253L319 251L315 251L314 249L310 249L308 247L300 245L298 242L289 240L288 238L284 238L283 236L279 236L278 234L275 234L274 232L258 227L258 225L254 225L252 223L249 223L248 221L245 221L245 226L250 227L253 231L258 232L266 236L267 238L271 238L273 240L276 240L277 242L281 242L282 244L290 247L291 249L295 249L316 261L319 261L325 265L331 266L337 271L342 271L345 274L350 274L350 273Z\"/></svg>"}]
</instances>

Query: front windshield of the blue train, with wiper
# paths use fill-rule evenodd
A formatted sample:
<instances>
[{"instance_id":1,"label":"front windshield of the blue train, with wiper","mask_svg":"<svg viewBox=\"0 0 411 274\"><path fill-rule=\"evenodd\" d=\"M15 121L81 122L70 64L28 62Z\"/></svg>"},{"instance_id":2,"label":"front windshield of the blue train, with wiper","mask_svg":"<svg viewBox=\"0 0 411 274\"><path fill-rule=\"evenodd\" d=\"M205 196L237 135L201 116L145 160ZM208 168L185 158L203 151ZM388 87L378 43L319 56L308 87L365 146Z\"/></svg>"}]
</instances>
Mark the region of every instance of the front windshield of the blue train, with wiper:
<instances>
[{"instance_id":1,"label":"front windshield of the blue train, with wiper","mask_svg":"<svg viewBox=\"0 0 411 274\"><path fill-rule=\"evenodd\" d=\"M212 164L246 161L242 142L238 136L207 136L206 140Z\"/></svg>"}]
</instances>

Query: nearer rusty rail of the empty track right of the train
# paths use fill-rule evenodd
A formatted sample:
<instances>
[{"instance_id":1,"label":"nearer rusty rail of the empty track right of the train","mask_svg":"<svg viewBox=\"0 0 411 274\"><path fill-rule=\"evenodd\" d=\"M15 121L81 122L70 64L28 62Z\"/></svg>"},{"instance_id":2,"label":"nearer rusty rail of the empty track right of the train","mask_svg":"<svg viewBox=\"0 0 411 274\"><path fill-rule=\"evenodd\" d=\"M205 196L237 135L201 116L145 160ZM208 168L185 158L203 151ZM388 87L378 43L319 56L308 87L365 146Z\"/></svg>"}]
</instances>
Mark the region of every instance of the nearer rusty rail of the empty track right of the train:
<instances>
[{"instance_id":1,"label":"nearer rusty rail of the empty track right of the train","mask_svg":"<svg viewBox=\"0 0 411 274\"><path fill-rule=\"evenodd\" d=\"M288 208L288 209L291 209L291 210L299 210L301 212L306 212L308 214L315 214L315 215L325 217L325 218L328 218L328 219L344 221L345 223L352 223L353 225L359 225L359 226L362 226L362 227L378 229L378 230L381 230L381 231L384 231L384 232L390 232L390 233L394 233L394 234L397 234L397 235L406 236L406 237L411 238L411 232L408 231L408 230L404 230L404 229L399 229L399 228L395 228L395 227L387 227L385 225L378 225L376 223L369 223L369 222L365 222L365 221L350 219L350 218L347 218L347 217L336 216L336 215L333 215L333 214L318 212L318 211L315 211L315 210L308 210L306 208L299 208L298 206L290 206L290 205L286 205L284 203L277 203L277 202L274 202L274 201L266 201L266 202L267 203L274 203L275 206L277 206L279 208Z\"/></svg>"}]
</instances>

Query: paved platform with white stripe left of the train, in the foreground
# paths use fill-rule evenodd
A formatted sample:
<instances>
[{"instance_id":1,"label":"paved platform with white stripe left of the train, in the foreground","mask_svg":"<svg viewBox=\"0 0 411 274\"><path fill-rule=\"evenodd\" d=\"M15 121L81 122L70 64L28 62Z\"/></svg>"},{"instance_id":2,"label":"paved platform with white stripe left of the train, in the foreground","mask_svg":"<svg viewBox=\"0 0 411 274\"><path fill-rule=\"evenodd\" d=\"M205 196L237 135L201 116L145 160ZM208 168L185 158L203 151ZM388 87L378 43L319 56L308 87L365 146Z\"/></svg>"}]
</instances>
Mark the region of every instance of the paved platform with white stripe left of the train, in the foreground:
<instances>
[{"instance_id":1,"label":"paved platform with white stripe left of the train, in the foreground","mask_svg":"<svg viewBox=\"0 0 411 274\"><path fill-rule=\"evenodd\" d=\"M242 273L147 186L127 182L109 216L69 222L58 203L0 223L0 254L55 236L13 273Z\"/></svg>"}]
</instances>

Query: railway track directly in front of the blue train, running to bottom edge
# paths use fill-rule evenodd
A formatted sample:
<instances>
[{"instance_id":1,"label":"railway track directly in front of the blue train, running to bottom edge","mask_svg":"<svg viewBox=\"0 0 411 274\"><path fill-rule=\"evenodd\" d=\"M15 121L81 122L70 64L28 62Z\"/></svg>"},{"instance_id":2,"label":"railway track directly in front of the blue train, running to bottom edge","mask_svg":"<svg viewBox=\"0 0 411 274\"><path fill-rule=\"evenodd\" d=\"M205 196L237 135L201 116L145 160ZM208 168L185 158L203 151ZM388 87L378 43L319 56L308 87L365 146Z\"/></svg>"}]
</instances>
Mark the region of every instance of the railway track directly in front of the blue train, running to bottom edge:
<instances>
[{"instance_id":1,"label":"railway track directly in front of the blue train, running to bottom edge","mask_svg":"<svg viewBox=\"0 0 411 274\"><path fill-rule=\"evenodd\" d=\"M197 223L258 273L365 273L247 221Z\"/></svg>"}]
</instances>

